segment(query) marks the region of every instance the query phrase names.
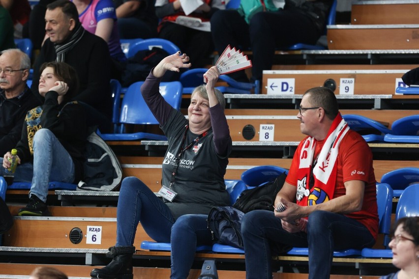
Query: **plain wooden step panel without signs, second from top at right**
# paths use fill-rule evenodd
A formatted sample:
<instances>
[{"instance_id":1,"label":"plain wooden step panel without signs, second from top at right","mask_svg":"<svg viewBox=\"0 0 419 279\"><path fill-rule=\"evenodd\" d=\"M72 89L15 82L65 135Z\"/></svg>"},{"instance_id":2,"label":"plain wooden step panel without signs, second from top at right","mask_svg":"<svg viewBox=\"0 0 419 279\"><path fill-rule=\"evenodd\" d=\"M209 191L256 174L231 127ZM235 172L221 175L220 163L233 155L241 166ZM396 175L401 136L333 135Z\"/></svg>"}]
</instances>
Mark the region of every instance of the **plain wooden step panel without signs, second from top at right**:
<instances>
[{"instance_id":1,"label":"plain wooden step panel without signs, second from top at right","mask_svg":"<svg viewBox=\"0 0 419 279\"><path fill-rule=\"evenodd\" d=\"M329 50L419 49L419 25L329 25Z\"/></svg>"}]
</instances>

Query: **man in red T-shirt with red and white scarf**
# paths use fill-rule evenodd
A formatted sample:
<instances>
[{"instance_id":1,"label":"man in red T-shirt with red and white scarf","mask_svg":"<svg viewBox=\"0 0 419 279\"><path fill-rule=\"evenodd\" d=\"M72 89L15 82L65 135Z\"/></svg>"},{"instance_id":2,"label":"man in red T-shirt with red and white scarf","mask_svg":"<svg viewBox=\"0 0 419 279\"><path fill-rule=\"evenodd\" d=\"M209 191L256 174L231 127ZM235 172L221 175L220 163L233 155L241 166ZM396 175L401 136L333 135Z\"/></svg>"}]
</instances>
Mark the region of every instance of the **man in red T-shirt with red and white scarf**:
<instances>
[{"instance_id":1,"label":"man in red T-shirt with red and white scarf","mask_svg":"<svg viewBox=\"0 0 419 279\"><path fill-rule=\"evenodd\" d=\"M304 93L297 117L307 137L276 196L275 212L255 210L242 219L248 279L272 278L271 256L290 246L308 247L309 279L328 279L334 250L372 247L377 238L368 144L349 129L326 87Z\"/></svg>"}]
</instances>

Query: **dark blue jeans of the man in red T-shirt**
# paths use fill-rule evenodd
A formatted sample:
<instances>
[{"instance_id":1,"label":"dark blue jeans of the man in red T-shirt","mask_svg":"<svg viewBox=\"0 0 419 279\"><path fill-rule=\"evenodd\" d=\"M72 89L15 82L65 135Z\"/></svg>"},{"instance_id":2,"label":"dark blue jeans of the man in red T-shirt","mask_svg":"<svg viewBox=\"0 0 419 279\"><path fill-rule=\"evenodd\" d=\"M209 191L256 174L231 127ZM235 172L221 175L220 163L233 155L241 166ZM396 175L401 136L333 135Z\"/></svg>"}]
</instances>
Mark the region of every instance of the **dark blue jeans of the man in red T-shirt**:
<instances>
[{"instance_id":1,"label":"dark blue jeans of the man in red T-shirt","mask_svg":"<svg viewBox=\"0 0 419 279\"><path fill-rule=\"evenodd\" d=\"M375 240L358 221L342 214L314 211L308 217L307 233L289 233L273 212L246 213L241 223L246 279L271 279L271 256L277 247L308 247L309 279L328 279L333 250L372 247Z\"/></svg>"}]
</instances>

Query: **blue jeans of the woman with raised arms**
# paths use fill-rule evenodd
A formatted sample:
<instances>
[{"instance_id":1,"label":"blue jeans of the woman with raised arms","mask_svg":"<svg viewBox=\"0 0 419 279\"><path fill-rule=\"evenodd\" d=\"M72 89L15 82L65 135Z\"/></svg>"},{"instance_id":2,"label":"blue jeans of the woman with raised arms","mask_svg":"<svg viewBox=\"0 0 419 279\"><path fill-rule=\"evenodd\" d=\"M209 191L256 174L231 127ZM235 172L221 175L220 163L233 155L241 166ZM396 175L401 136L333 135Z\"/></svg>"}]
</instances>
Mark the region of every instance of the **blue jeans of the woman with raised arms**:
<instances>
[{"instance_id":1,"label":"blue jeans of the woman with raised arms","mask_svg":"<svg viewBox=\"0 0 419 279\"><path fill-rule=\"evenodd\" d=\"M118 199L116 246L133 245L139 222L155 241L172 243L172 279L186 279L197 245L212 244L207 215L183 215L175 222L170 209L147 185L126 177Z\"/></svg>"}]
</instances>

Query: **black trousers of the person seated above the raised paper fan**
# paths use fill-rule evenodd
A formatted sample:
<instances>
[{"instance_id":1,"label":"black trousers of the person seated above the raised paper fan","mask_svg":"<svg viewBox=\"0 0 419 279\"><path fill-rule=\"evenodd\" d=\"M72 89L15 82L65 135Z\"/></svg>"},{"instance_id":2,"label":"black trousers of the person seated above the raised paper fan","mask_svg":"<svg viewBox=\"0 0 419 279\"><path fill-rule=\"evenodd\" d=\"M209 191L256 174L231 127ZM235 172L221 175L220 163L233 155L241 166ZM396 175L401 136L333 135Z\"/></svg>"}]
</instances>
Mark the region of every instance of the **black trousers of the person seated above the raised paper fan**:
<instances>
[{"instance_id":1,"label":"black trousers of the person seated above the raised paper fan","mask_svg":"<svg viewBox=\"0 0 419 279\"><path fill-rule=\"evenodd\" d=\"M229 44L242 51L250 47L254 80L262 80L262 71L272 68L275 49L296 43L315 44L321 35L313 21L296 9L257 13L249 25L236 10L219 10L211 17L211 33L220 54ZM230 76L234 75L240 74Z\"/></svg>"}]
</instances>

